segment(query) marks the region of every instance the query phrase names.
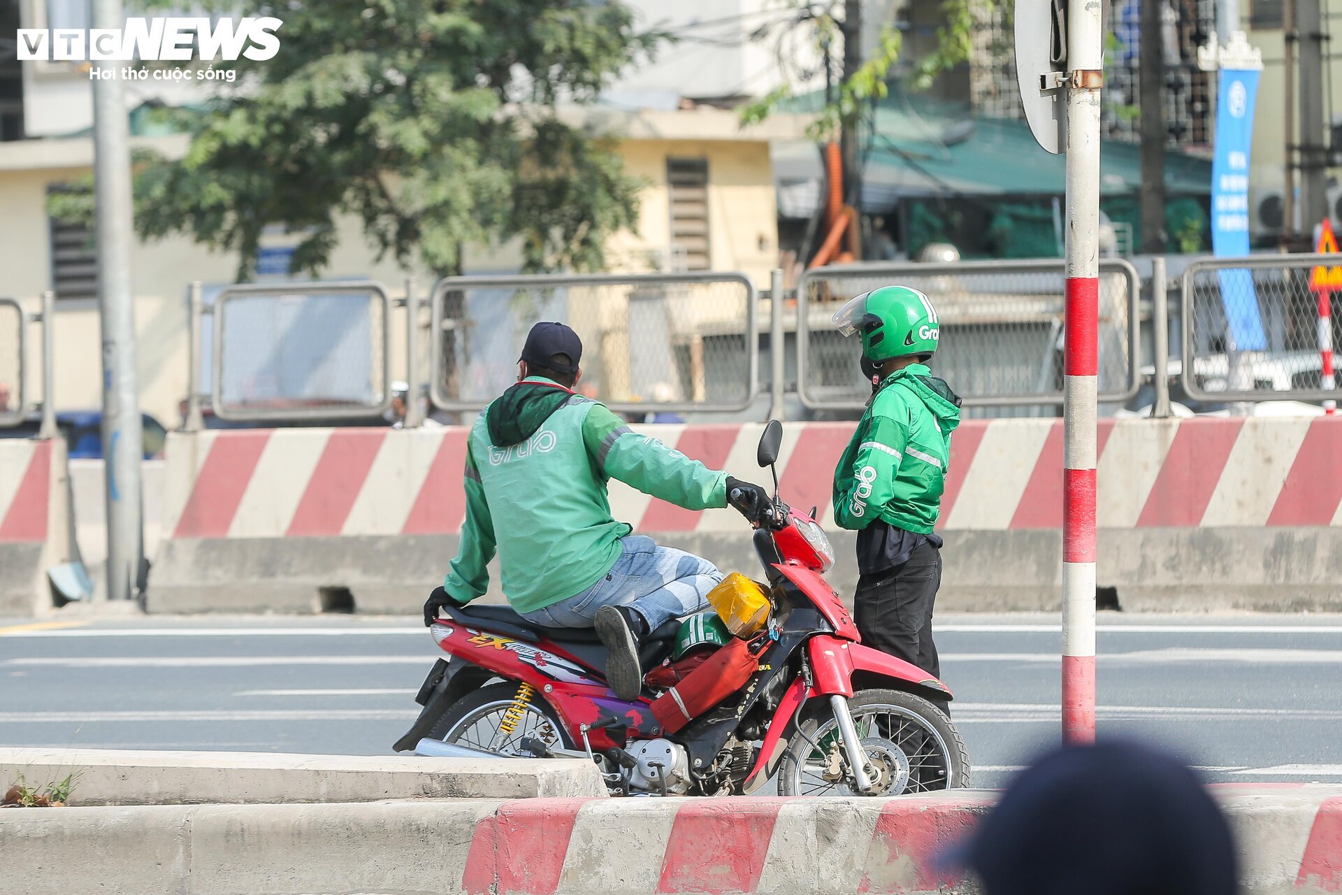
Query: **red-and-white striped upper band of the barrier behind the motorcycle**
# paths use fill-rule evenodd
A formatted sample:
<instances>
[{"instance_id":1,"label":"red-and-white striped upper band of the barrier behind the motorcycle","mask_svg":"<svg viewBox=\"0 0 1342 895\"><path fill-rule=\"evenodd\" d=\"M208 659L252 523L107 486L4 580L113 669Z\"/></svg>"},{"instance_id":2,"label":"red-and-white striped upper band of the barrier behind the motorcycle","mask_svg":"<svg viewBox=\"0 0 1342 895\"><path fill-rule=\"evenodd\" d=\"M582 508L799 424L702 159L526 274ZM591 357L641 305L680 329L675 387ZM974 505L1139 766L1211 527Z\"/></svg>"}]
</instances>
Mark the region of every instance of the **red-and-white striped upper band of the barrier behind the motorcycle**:
<instances>
[{"instance_id":1,"label":"red-and-white striped upper band of the barrier behind the motorcycle","mask_svg":"<svg viewBox=\"0 0 1342 895\"><path fill-rule=\"evenodd\" d=\"M714 468L764 480L761 427L635 427ZM782 496L829 510L852 427L785 427ZM1342 526L1342 420L1100 420L1100 529ZM455 534L466 513L464 429L254 429L172 433L165 537ZM557 483L562 487L562 483ZM3 495L3 492L0 492ZM741 531L730 510L691 513L611 483L640 531ZM966 421L951 439L939 529L1062 529L1060 420Z\"/></svg>"}]
</instances>

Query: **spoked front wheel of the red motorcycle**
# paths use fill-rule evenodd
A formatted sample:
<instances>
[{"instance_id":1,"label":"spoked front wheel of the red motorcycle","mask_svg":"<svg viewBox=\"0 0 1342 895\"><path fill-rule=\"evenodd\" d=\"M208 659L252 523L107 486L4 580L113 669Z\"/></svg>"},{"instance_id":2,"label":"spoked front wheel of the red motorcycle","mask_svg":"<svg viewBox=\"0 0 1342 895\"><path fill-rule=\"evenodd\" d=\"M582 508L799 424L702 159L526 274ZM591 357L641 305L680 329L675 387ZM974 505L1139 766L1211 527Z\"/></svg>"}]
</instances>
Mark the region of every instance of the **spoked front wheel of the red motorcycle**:
<instances>
[{"instance_id":1,"label":"spoked front wheel of the red motorcycle","mask_svg":"<svg viewBox=\"0 0 1342 895\"><path fill-rule=\"evenodd\" d=\"M780 796L907 796L969 786L969 751L933 703L899 690L848 700L871 761L874 789L859 792L829 702L812 699L778 766Z\"/></svg>"}]
</instances>

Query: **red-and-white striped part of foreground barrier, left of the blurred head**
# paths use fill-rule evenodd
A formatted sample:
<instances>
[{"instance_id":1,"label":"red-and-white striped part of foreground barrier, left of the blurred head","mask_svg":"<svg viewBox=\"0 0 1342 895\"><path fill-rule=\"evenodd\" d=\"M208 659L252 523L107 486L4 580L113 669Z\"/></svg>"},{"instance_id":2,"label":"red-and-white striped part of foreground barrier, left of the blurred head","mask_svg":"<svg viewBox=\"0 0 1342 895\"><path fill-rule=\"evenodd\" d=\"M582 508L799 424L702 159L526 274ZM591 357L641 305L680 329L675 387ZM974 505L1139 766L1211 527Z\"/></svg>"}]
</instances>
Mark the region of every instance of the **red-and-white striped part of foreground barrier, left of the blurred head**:
<instances>
[{"instance_id":1,"label":"red-and-white striped part of foreground barrier, left of the blurred head","mask_svg":"<svg viewBox=\"0 0 1342 895\"><path fill-rule=\"evenodd\" d=\"M466 895L938 892L992 794L525 800L475 824ZM447 880L455 890L456 880Z\"/></svg>"}]
</instances>

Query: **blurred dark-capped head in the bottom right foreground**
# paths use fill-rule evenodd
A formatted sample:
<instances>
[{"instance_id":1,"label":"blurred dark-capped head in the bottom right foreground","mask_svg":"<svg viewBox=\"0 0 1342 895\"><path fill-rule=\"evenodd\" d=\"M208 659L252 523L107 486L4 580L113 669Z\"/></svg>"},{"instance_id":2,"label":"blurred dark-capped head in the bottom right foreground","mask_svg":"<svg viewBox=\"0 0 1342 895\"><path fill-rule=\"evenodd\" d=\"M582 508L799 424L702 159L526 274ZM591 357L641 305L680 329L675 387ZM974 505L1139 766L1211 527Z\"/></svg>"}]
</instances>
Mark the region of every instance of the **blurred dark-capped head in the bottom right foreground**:
<instances>
[{"instance_id":1,"label":"blurred dark-capped head in the bottom right foreground","mask_svg":"<svg viewBox=\"0 0 1342 895\"><path fill-rule=\"evenodd\" d=\"M1193 772L1133 742L1068 746L1002 793L957 859L984 895L1235 895L1231 829Z\"/></svg>"}]
</instances>

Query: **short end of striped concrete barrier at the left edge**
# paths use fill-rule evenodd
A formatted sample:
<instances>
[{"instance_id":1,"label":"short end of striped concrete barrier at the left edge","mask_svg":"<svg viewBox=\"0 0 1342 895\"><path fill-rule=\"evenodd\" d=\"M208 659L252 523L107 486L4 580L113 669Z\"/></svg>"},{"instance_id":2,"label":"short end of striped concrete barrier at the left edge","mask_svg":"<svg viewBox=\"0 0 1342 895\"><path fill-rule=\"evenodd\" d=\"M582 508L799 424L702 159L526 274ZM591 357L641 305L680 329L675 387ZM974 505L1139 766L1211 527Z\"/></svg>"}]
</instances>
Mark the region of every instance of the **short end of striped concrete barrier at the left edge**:
<instances>
[{"instance_id":1,"label":"short end of striped concrete barrier at the left edge","mask_svg":"<svg viewBox=\"0 0 1342 895\"><path fill-rule=\"evenodd\" d=\"M52 605L47 572L78 557L63 439L0 439L0 616Z\"/></svg>"}]
</instances>

